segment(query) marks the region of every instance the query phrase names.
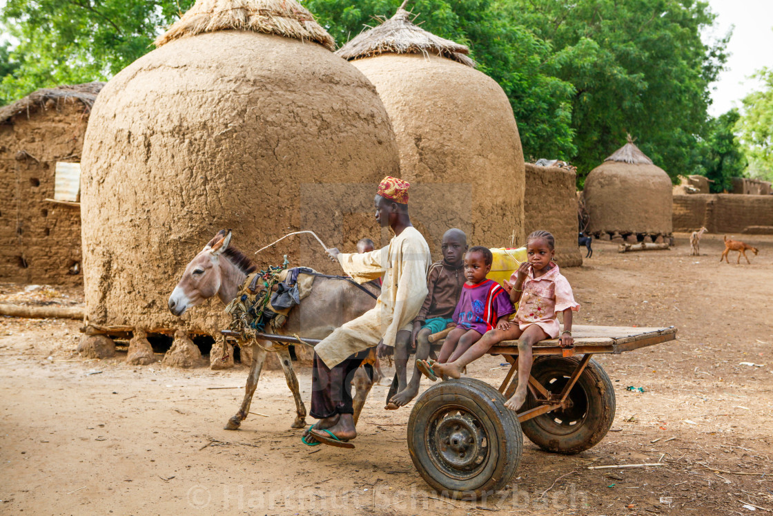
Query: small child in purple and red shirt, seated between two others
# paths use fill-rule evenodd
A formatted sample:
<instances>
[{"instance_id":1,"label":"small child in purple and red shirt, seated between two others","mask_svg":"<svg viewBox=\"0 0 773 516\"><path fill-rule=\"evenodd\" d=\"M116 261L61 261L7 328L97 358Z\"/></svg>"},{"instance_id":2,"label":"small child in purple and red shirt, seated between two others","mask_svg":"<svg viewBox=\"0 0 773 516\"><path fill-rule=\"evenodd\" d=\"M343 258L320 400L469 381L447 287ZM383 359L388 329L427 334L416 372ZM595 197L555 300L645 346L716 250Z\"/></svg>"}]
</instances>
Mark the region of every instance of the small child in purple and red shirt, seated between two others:
<instances>
[{"instance_id":1,"label":"small child in purple and red shirt, seated between two others","mask_svg":"<svg viewBox=\"0 0 773 516\"><path fill-rule=\"evenodd\" d=\"M444 364L461 357L484 333L496 327L499 320L507 320L514 308L510 296L502 285L486 279L491 271L493 256L489 248L475 246L465 255L465 277L461 297L454 310L454 330L448 333L438 356ZM434 361L416 361L419 371L431 380L437 380L432 371Z\"/></svg>"}]
</instances>

